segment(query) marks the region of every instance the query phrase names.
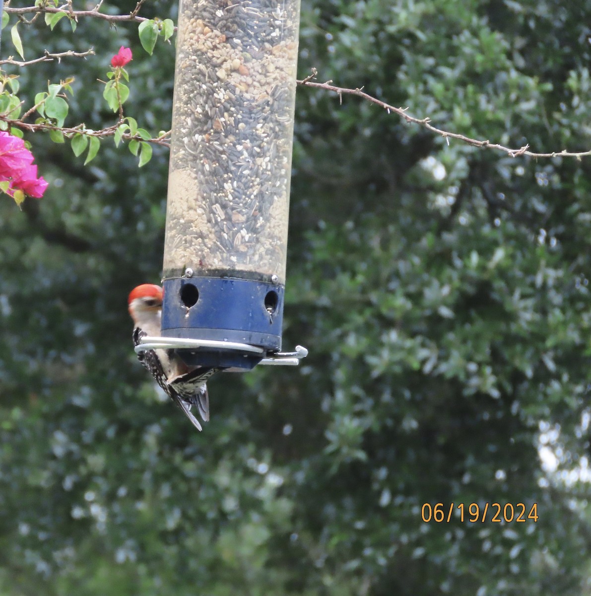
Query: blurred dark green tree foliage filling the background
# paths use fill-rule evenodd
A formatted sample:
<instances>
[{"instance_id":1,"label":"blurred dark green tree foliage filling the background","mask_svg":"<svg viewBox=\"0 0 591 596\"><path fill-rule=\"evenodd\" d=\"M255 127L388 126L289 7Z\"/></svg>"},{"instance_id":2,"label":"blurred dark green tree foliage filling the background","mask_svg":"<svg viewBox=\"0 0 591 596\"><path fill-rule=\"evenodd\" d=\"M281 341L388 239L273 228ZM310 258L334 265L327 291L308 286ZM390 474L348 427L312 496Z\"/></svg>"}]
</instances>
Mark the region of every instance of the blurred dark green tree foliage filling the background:
<instances>
[{"instance_id":1,"label":"blurred dark green tree foliage filling the background","mask_svg":"<svg viewBox=\"0 0 591 596\"><path fill-rule=\"evenodd\" d=\"M176 22L175 4L141 14ZM298 72L474 138L584 151L589 23L589 2L303 0ZM126 45L127 113L170 128L174 44L149 57L136 23L90 18L19 30L32 56L96 51L6 66L21 98L74 76L69 120L101 128L97 79ZM136 362L126 312L160 277L167 151L138 169L103 140L84 167L26 138L50 188L0 202L1 593L589 594L591 158L448 144L300 87L284 346L310 356L214 378L198 434ZM425 523L425 502L539 519Z\"/></svg>"}]
</instances>

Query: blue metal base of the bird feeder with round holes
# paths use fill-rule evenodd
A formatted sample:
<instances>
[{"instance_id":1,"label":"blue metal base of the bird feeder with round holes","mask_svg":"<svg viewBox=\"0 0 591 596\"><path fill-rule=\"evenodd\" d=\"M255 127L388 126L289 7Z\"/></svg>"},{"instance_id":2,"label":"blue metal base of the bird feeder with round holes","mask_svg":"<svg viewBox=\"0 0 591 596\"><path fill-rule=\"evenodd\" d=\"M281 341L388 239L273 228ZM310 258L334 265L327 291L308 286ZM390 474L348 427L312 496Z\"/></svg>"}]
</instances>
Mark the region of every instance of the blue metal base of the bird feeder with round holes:
<instances>
[{"instance_id":1,"label":"blue metal base of the bird feeder with round holes","mask_svg":"<svg viewBox=\"0 0 591 596\"><path fill-rule=\"evenodd\" d=\"M179 349L190 366L250 370L266 352L281 350L284 287L256 280L191 277L164 280L163 337L216 340L262 347L262 355L235 349Z\"/></svg>"}]
</instances>

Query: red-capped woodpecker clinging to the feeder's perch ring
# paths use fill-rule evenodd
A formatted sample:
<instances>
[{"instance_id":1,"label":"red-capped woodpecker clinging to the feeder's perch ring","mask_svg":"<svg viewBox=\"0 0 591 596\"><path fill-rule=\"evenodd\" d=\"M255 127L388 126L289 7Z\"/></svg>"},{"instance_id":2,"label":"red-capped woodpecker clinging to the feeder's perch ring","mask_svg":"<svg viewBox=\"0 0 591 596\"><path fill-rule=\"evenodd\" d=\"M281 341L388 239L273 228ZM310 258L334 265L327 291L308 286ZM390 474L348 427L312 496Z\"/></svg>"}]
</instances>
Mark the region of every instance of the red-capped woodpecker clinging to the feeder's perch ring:
<instances>
[{"instance_id":1,"label":"red-capped woodpecker clinging to the feeder's perch ring","mask_svg":"<svg viewBox=\"0 0 591 596\"><path fill-rule=\"evenodd\" d=\"M129 314L133 319L133 346L142 337L160 337L160 319L163 291L159 285L142 284L134 288L127 300ZM206 380L217 373L216 368L188 367L172 349L145 350L139 352L139 361L150 371L155 381L168 395L197 430L201 424L191 413L191 406L197 406L204 421L209 420L209 395Z\"/></svg>"}]
</instances>

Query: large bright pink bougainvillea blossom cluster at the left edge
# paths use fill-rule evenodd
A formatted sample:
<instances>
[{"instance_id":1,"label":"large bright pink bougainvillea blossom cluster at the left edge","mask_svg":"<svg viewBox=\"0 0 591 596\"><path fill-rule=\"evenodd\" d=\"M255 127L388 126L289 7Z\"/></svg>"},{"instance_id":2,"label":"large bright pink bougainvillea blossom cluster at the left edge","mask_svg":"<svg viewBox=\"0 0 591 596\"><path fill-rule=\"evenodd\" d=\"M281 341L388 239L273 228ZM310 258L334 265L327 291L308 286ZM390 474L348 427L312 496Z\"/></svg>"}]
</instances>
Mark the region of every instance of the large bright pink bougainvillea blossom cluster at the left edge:
<instances>
[{"instance_id":1,"label":"large bright pink bougainvillea blossom cluster at the left edge","mask_svg":"<svg viewBox=\"0 0 591 596\"><path fill-rule=\"evenodd\" d=\"M2 186L5 193L11 197L17 191L35 198L43 196L48 184L43 176L37 177L37 166L33 165L33 159L23 139L0 131L0 182L10 182Z\"/></svg>"}]
</instances>

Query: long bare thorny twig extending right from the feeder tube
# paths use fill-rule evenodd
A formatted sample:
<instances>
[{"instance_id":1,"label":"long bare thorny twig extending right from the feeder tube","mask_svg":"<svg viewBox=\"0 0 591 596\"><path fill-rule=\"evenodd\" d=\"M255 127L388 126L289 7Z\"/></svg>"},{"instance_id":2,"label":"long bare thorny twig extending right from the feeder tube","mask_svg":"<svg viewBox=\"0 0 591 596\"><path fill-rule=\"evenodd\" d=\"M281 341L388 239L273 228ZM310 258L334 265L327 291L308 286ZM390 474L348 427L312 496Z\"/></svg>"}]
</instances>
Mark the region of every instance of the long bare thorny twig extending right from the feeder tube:
<instances>
[{"instance_id":1,"label":"long bare thorny twig extending right from the feeder tube","mask_svg":"<svg viewBox=\"0 0 591 596\"><path fill-rule=\"evenodd\" d=\"M551 153L535 153L534 151L529 150L529 148L530 148L529 145L524 145L523 147L520 147L519 149L511 149L509 147L504 147L503 145L499 145L497 143L492 143L490 141L480 141L478 139L472 139L469 136L461 135L456 132L444 131L441 128L437 128L436 126L431 125L430 124L431 119L428 117L427 118L416 118L414 116L410 116L410 114L406 113L406 111L408 110L408 107L406 107L406 108L394 107L393 105L390 105L390 104L385 103L384 101L378 100L377 98L372 97L371 95L367 94L365 91L362 91L363 88L361 88L361 89L347 89L347 88L343 88L343 87L337 87L335 85L331 85L332 81L327 81L326 83L314 82L312 79L314 79L316 77L316 75L317 75L316 69L312 69L312 75L307 76L305 79L298 80L297 83L298 83L298 85L302 85L305 87L314 87L316 89L325 89L325 91L332 91L339 96L341 102L343 100L343 95L357 95L357 97L361 97L364 100L367 100L371 103L374 103L374 104L379 105L380 107L384 108L384 110L388 111L388 114L390 112L394 112L395 114L398 114L400 117L405 119L406 122L409 122L412 124L418 124L419 126L426 128L428 131L431 131L438 135L443 136L443 138L445 138L447 140L448 144L449 144L449 139L457 139L458 141L465 142L468 145L473 145L474 147L483 147L483 148L486 147L488 149L496 149L498 151L503 151L504 153L508 154L511 157L527 155L529 157L576 157L577 159L581 159L581 157L591 156L591 150L571 152L571 151L567 151L566 149L563 149L562 151L552 151Z\"/></svg>"}]
</instances>

